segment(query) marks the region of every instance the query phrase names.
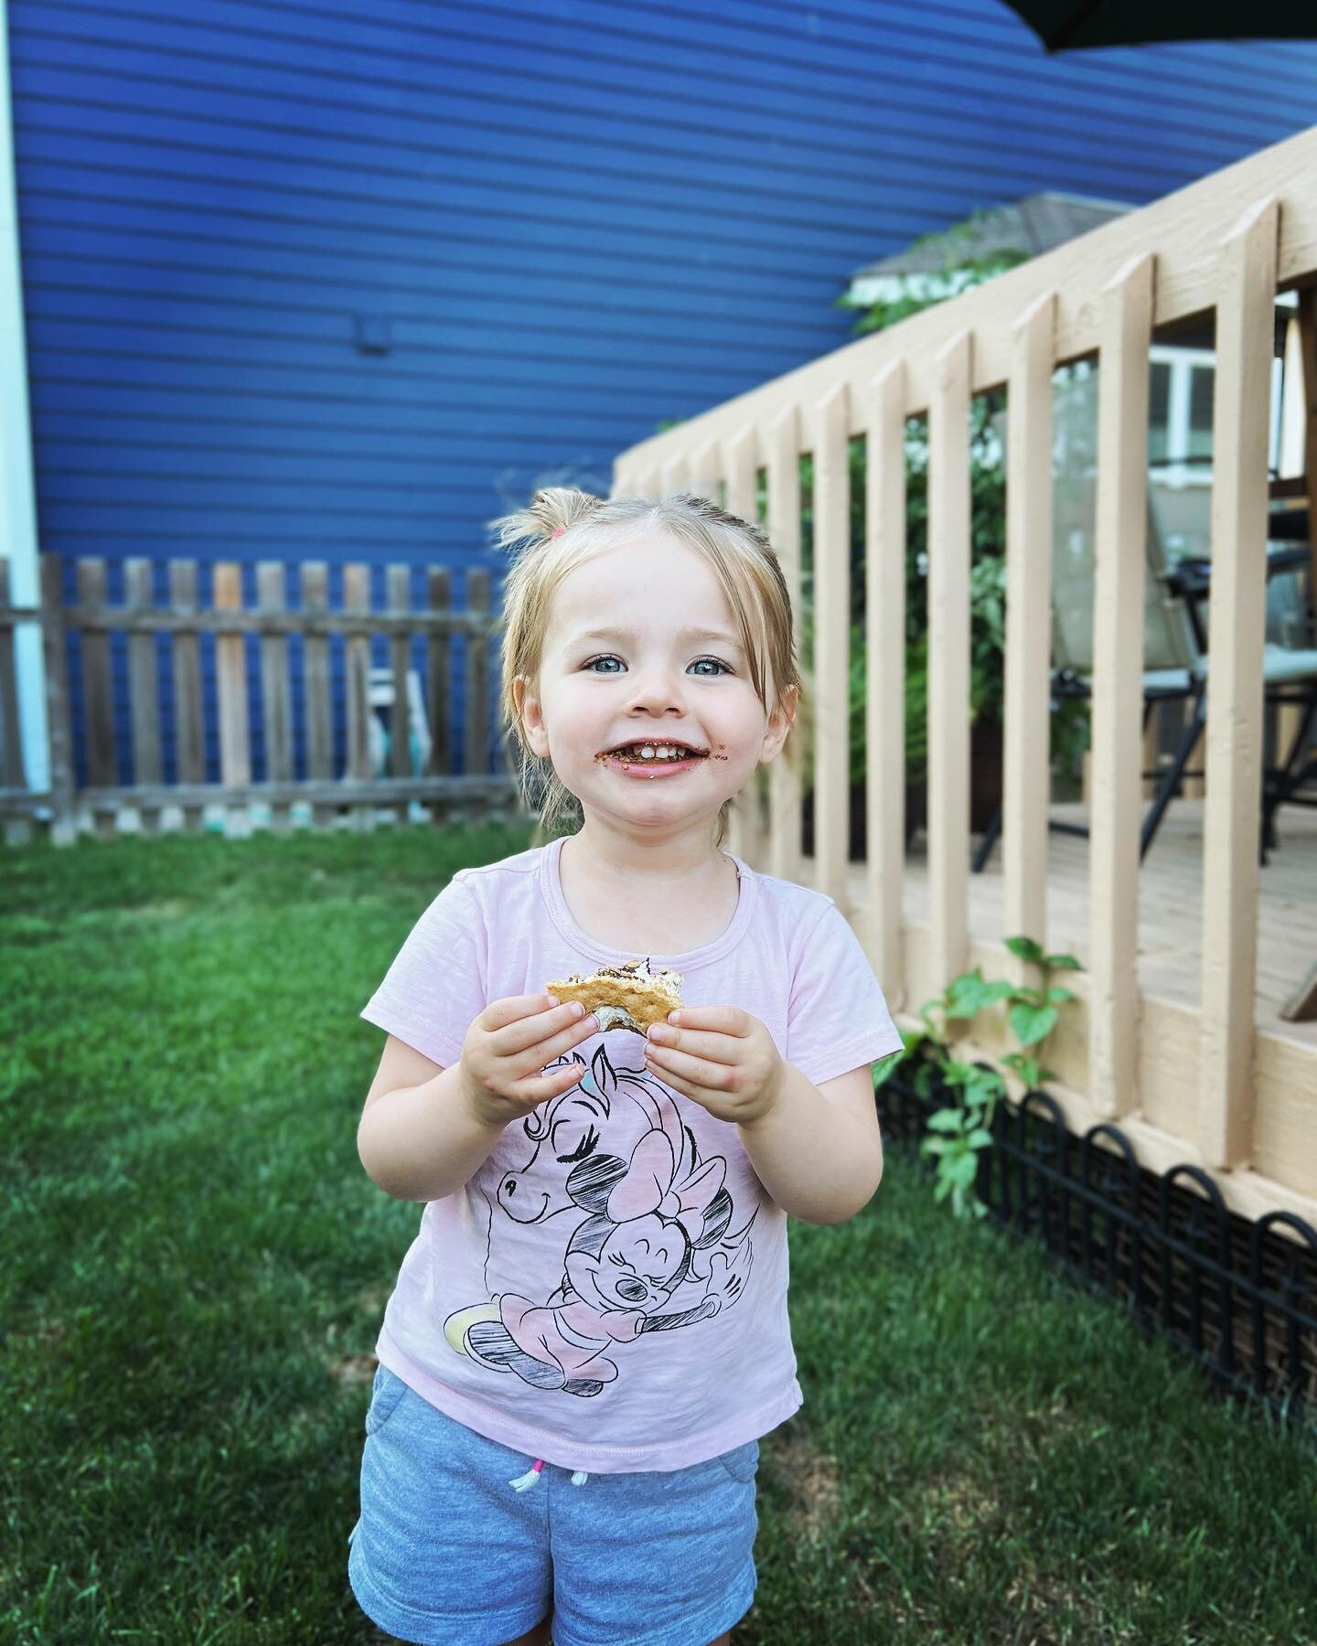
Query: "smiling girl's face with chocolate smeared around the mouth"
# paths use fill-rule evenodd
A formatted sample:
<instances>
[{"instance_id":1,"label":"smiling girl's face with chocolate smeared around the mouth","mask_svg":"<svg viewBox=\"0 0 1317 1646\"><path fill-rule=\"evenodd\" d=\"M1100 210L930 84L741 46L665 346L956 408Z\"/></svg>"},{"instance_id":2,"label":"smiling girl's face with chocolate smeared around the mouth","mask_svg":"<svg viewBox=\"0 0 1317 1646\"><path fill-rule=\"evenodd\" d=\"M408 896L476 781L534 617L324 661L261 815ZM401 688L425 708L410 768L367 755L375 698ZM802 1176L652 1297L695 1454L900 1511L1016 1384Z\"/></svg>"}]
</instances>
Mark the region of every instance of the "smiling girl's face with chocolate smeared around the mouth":
<instances>
[{"instance_id":1,"label":"smiling girl's face with chocolate smeared around the mouth","mask_svg":"<svg viewBox=\"0 0 1317 1646\"><path fill-rule=\"evenodd\" d=\"M583 808L632 826L716 816L790 729L756 696L713 571L662 533L603 550L558 584L540 696L525 695L524 724L535 754L551 759ZM667 739L710 757L654 777L599 759L622 742Z\"/></svg>"}]
</instances>

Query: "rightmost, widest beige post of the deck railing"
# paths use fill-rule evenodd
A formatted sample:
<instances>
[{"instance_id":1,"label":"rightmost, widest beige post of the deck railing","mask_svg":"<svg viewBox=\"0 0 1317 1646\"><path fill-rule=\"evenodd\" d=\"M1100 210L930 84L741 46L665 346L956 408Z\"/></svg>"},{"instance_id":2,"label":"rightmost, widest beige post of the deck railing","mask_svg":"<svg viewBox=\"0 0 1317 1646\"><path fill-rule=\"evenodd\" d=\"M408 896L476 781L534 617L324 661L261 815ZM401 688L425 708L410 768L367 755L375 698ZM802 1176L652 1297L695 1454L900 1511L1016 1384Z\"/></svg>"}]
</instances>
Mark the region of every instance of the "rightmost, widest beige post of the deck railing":
<instances>
[{"instance_id":1,"label":"rightmost, widest beige post of the deck railing","mask_svg":"<svg viewBox=\"0 0 1317 1646\"><path fill-rule=\"evenodd\" d=\"M1277 229L1274 199L1254 206L1236 224L1222 249L1217 303L1198 1149L1203 1164L1218 1169L1245 1165L1253 1149L1266 464ZM1309 484L1314 479L1309 476Z\"/></svg>"}]
</instances>

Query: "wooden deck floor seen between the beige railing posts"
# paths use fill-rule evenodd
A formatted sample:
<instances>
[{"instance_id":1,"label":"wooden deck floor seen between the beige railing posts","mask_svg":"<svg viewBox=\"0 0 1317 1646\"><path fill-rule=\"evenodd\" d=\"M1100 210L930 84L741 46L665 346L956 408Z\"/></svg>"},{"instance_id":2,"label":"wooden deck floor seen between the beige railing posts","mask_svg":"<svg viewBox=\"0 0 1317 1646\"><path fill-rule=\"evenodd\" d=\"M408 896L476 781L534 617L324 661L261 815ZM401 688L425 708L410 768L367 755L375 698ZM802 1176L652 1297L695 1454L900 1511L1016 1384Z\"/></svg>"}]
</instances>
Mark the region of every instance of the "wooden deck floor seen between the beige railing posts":
<instances>
[{"instance_id":1,"label":"wooden deck floor seen between the beige railing posts","mask_svg":"<svg viewBox=\"0 0 1317 1646\"><path fill-rule=\"evenodd\" d=\"M1052 816L1087 823L1083 805L1052 807ZM1259 869L1256 1024L1317 1053L1317 1022L1289 1024L1281 1006L1317 960L1317 810L1286 807L1277 813L1279 846ZM853 890L863 869L851 866ZM1198 1011L1202 969L1203 803L1175 800L1139 871L1139 989L1144 996ZM907 923L928 922L925 836L905 861ZM1001 846L983 874L970 876L970 935L994 943L1003 932ZM1037 933L1031 933L1037 935ZM1047 932L1052 953L1088 963L1088 841L1049 835ZM919 1001L912 1002L919 1006Z\"/></svg>"}]
</instances>

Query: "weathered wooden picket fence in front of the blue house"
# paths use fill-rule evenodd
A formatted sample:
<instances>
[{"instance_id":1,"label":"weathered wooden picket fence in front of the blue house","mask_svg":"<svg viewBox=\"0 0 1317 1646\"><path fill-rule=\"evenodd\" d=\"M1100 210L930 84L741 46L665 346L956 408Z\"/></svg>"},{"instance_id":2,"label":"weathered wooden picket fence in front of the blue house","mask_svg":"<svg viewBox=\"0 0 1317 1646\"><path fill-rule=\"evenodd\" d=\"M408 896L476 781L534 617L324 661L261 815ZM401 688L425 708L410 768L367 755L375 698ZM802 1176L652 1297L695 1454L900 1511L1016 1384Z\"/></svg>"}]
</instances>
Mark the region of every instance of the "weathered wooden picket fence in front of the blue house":
<instances>
[{"instance_id":1,"label":"weathered wooden picket fence in front of the blue house","mask_svg":"<svg viewBox=\"0 0 1317 1646\"><path fill-rule=\"evenodd\" d=\"M153 597L153 565L133 558L123 563L125 599L107 601L105 561L77 560L76 602L64 599L64 568L54 555L41 558L41 606L18 607L10 601L8 565L0 560L0 816L7 841L26 838L33 821L46 821L56 843L71 841L79 818L89 816L99 835L119 830L120 811L128 807L142 830L156 833L165 807L178 807L183 826L199 830L204 808L224 808L230 835L247 833L252 805L270 808L277 831L291 826L290 808L309 807L313 825L326 825L346 813L357 828L370 828L380 808L407 821L412 803L425 807L436 820L458 815L487 815L517 805L510 772L491 772L489 708L496 686L497 645L491 644L502 619L491 611L489 573L466 574L466 607L449 609L449 573L431 566L425 573L425 604L410 601L410 568L385 568L387 607L370 609L370 568L349 565L342 571L344 604L329 609L329 570L323 561L290 568L262 561L257 571L257 604L244 606L242 568L234 561L214 566L212 604L198 602L198 565L171 560L170 599ZM288 573L296 573L300 606L288 609ZM46 665L46 719L49 728L51 782L35 790L23 769L18 737L18 683L15 672L15 625L36 619L41 624ZM110 637L127 635L127 709L130 721L132 782L119 782L115 752L115 686ZM206 779L207 716L202 698L202 637L214 635L216 714L211 721L212 746L217 737L219 782ZM265 747L265 779L252 779L254 728L249 709L247 635L260 637L258 698ZM74 775L69 677L69 637L77 635L82 655L81 721L86 729L86 783ZM175 782L165 782L158 635L170 637L173 686ZM293 681L290 635L301 637L301 685L305 693L305 760L295 772ZM331 635L344 637L346 724L333 721ZM389 637L389 765L377 775L372 764L369 718L372 637ZM413 637L425 639L426 704L430 751L420 772L413 769L412 704L408 673ZM463 770L451 772L456 747L453 723L454 691L451 640L466 635ZM336 736L337 734L337 736ZM334 749L346 757L336 770Z\"/></svg>"}]
</instances>

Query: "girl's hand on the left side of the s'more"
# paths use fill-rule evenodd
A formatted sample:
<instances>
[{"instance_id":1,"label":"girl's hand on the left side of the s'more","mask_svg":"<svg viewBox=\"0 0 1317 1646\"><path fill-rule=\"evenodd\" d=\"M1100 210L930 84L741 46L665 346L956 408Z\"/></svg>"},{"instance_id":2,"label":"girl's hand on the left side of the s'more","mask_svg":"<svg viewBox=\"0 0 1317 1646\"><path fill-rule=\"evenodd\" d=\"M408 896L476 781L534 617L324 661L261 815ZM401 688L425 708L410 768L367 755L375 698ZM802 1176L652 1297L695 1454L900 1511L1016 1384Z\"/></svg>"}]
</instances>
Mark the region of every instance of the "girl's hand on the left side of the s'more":
<instances>
[{"instance_id":1,"label":"girl's hand on the left side of the s'more","mask_svg":"<svg viewBox=\"0 0 1317 1646\"><path fill-rule=\"evenodd\" d=\"M579 1063L540 1075L545 1063L599 1032L579 1004L558 1006L551 994L512 994L491 1001L463 1040L463 1075L476 1116L507 1126L576 1085Z\"/></svg>"}]
</instances>

